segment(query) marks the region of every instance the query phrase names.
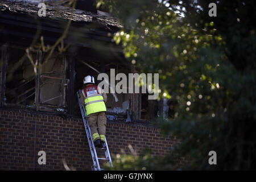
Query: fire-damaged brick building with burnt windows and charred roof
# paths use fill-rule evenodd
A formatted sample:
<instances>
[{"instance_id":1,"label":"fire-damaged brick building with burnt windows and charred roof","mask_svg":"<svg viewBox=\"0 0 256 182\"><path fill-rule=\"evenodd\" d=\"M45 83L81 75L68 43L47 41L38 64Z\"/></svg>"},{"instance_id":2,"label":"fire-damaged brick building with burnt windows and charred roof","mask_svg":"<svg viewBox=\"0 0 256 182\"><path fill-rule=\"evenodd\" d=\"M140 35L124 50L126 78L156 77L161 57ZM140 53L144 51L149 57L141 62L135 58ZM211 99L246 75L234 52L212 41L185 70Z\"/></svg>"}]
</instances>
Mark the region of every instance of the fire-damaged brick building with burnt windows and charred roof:
<instances>
[{"instance_id":1,"label":"fire-damaged brick building with burnt windows and charred roof","mask_svg":"<svg viewBox=\"0 0 256 182\"><path fill-rule=\"evenodd\" d=\"M63 170L65 161L89 170L92 159L76 92L86 75L137 69L112 41L122 28L112 16L63 5L47 4L45 17L38 10L35 3L0 2L0 169ZM59 40L49 56L47 45ZM151 148L154 155L165 155L179 143L161 137L148 122L163 113L163 102L142 93L115 97L118 101L108 94L106 104L111 155L130 154L129 144L138 154ZM46 152L46 164L38 164L39 151Z\"/></svg>"}]
</instances>

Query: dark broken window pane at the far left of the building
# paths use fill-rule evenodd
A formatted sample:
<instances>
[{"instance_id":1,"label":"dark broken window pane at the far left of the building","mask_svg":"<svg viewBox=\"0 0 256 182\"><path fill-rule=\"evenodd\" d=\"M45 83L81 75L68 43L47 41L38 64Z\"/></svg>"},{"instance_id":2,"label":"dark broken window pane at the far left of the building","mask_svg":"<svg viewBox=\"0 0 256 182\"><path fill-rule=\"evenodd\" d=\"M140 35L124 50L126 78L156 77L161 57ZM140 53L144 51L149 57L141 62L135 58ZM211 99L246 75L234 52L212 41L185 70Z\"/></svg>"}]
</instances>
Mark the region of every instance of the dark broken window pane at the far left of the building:
<instances>
[{"instance_id":1,"label":"dark broken window pane at the far left of the building","mask_svg":"<svg viewBox=\"0 0 256 182\"><path fill-rule=\"evenodd\" d=\"M2 64L6 65L5 80L2 80L5 85L3 105L32 107L34 104L35 77L27 77L24 72L28 62L24 53L24 49L19 47L6 49L6 59L2 59Z\"/></svg>"}]
</instances>

